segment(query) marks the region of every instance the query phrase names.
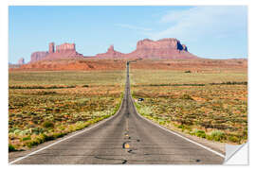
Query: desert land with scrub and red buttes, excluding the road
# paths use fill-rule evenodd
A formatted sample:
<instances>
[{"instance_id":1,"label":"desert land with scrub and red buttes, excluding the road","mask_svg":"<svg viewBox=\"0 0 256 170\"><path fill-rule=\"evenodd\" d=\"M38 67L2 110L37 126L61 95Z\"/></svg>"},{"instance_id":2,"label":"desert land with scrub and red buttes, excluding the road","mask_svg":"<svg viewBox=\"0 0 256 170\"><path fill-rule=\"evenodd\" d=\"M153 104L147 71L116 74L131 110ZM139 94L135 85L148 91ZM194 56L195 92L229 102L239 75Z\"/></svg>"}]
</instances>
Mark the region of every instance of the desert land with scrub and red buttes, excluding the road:
<instances>
[{"instance_id":1,"label":"desert land with scrub and red buttes, excluding the road","mask_svg":"<svg viewBox=\"0 0 256 170\"><path fill-rule=\"evenodd\" d=\"M9 64L9 151L88 127L117 112L126 62L137 111L155 123L216 143L247 142L247 59L204 59L176 39L137 42L124 54L83 56L50 42ZM143 98L143 102L137 101Z\"/></svg>"}]
</instances>

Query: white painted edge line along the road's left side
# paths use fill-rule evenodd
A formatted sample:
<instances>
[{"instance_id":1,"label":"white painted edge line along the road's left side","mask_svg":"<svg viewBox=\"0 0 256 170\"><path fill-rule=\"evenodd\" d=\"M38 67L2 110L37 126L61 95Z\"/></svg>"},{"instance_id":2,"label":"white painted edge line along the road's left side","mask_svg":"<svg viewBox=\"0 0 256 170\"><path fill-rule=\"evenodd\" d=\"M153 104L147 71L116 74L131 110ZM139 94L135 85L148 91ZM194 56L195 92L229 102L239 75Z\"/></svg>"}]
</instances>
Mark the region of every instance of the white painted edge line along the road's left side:
<instances>
[{"instance_id":1,"label":"white painted edge line along the road's left side","mask_svg":"<svg viewBox=\"0 0 256 170\"><path fill-rule=\"evenodd\" d=\"M64 137L64 139L61 139L60 141L57 141L57 142L55 142L55 143L53 143L53 144L48 144L48 145L46 145L45 147L42 147L42 148L40 148L40 149L38 149L38 150L35 150L35 151L33 151L33 152L30 152L30 153L28 153L27 155L25 155L25 156L23 156L23 157L20 157L20 158L18 158L18 159L16 159L16 160L10 161L9 164L13 164L14 162L24 160L24 159L26 159L27 157L29 157L29 156L31 156L31 155L34 155L34 154L36 154L36 153L38 153L38 152L40 152L40 151L42 151L42 150L45 150L46 148L51 147L52 145L55 145L55 144L59 144L59 143L61 143L61 142L64 142L65 140L70 139L70 138L72 138L72 137L74 137L74 136L77 136L77 135L79 135L79 134L81 134L81 133L83 133L83 132L85 132L85 131L88 131L88 130L94 128L94 127L99 127L101 124L103 124L103 123L105 123L105 122L107 122L107 121L113 119L114 117L117 117L117 115L119 114L119 111L120 111L120 109L121 109L121 107L122 107L122 105L123 105L123 99L124 99L124 97L122 97L122 99L121 99L121 104L120 104L119 110L118 110L113 116L110 116L109 118L100 121L98 124L95 124L93 127L87 127L87 128L84 127L84 129L82 129L82 131L77 131L77 132L75 132L75 134L73 134L73 135L71 135L71 136Z\"/></svg>"}]
</instances>

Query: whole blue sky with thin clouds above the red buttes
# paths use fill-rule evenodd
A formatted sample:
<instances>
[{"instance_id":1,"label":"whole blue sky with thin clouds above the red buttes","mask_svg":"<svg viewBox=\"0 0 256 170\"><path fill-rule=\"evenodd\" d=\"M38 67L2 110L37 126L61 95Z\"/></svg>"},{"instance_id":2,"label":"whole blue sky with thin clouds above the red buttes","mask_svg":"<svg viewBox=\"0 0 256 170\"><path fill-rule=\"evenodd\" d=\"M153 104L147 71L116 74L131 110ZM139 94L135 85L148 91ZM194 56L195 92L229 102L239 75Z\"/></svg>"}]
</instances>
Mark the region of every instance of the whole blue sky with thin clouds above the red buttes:
<instances>
[{"instance_id":1,"label":"whole blue sky with thin clouds above the red buttes","mask_svg":"<svg viewBox=\"0 0 256 170\"><path fill-rule=\"evenodd\" d=\"M75 42L83 56L130 53L142 39L176 38L202 58L247 58L246 6L9 7L9 62L48 43Z\"/></svg>"}]
</instances>

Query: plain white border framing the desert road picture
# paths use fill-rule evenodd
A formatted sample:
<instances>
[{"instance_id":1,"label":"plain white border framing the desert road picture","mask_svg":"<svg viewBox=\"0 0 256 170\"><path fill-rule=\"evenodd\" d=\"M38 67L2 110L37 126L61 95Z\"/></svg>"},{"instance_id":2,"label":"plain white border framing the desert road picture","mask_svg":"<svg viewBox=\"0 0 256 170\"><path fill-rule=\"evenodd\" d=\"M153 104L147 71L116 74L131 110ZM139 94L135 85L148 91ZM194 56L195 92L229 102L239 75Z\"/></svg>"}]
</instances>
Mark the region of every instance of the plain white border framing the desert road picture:
<instances>
[{"instance_id":1,"label":"plain white border framing the desert road picture","mask_svg":"<svg viewBox=\"0 0 256 170\"><path fill-rule=\"evenodd\" d=\"M123 2L124 1L124 2ZM1 69L1 79L6 81L2 81L1 82L1 109L4 111L1 111L1 116L3 116L3 118L1 117L1 129L5 129L4 130L4 136L2 136L3 138L6 137L6 135L8 136L8 92L7 92L7 88L8 88L8 74L7 74L7 70L8 70L8 5L22 5L22 6L26 6L26 5L36 5L36 6L42 6L42 5L61 5L61 6L68 6L68 5L108 5L108 6L113 6L113 5L184 5L184 6L201 6L201 5L247 5L248 6L248 76L249 76L249 84L248 84L248 95L249 95L249 99L248 99L248 138L249 141L255 141L256 142L256 138L255 135L253 133L250 133L250 131L256 131L256 125L255 124L250 124L251 122L254 123L254 121L256 120L256 109L255 109L255 101L256 101L256 97L255 97L255 93L256 93L256 89L252 88L252 87L256 87L256 81L253 77L253 73L256 73L256 51L255 49L255 40L256 40L256 36L255 36L255 30L256 30L256 25L255 25L255 16L256 16L256 6L255 6L255 0L144 0L144 1L136 1L136 0L101 0L101 1L85 1L85 0L16 0L16 1L9 1L8 0L1 0L0 1L0 69ZM251 121L252 120L252 121ZM255 125L255 126L254 126ZM15 167L10 167L8 165L8 141L7 140L1 140L1 165L5 165L2 166L3 169L6 168L15 168ZM255 144L255 143L254 143ZM253 143L250 143L249 146L250 150L256 150L256 145L254 146ZM254 152L249 152L249 155L254 154ZM225 168L225 169L250 169L251 167L256 165L256 161L253 161L253 157L251 156L251 161L249 162L249 166L218 166L218 168ZM255 157L254 157L255 158ZM54 165L48 165L47 167L57 167ZM60 167L60 166L58 166ZM75 167L75 168L81 168L84 169L84 166L62 166L61 168L64 169L70 169L70 167ZM92 165L87 165L88 168L101 168L102 166L92 166ZM165 166L165 165L161 165L161 166L147 166L147 169L155 169L155 168L161 168L161 169L170 169L170 166ZM175 169L180 169L183 170L184 167L188 167L188 166L175 166ZM24 166L20 166L19 168L24 168L24 169L46 169L46 166L28 166L28 165L24 165ZM106 169L119 169L119 166L104 166L103 168ZM122 166L122 169L125 168L130 168L129 166ZM133 168L137 168L137 167L133 167ZM189 166L190 169L205 169L205 166ZM216 169L216 166L208 166L207 168L209 169ZM251 169L255 169L251 168Z\"/></svg>"}]
</instances>

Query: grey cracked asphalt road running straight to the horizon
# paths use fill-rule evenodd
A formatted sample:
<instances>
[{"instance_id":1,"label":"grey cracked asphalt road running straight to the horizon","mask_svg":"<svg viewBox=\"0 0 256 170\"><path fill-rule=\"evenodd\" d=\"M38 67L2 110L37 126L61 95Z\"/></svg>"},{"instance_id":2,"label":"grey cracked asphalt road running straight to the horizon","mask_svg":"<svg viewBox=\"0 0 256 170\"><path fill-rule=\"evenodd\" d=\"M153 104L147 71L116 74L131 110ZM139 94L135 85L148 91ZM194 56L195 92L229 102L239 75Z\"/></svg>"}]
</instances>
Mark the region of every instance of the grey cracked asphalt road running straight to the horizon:
<instances>
[{"instance_id":1,"label":"grey cracked asphalt road running straight to the horizon","mask_svg":"<svg viewBox=\"0 0 256 170\"><path fill-rule=\"evenodd\" d=\"M137 114L129 63L119 112L95 127L31 153L13 164L222 164L224 158L155 126Z\"/></svg>"}]
</instances>

